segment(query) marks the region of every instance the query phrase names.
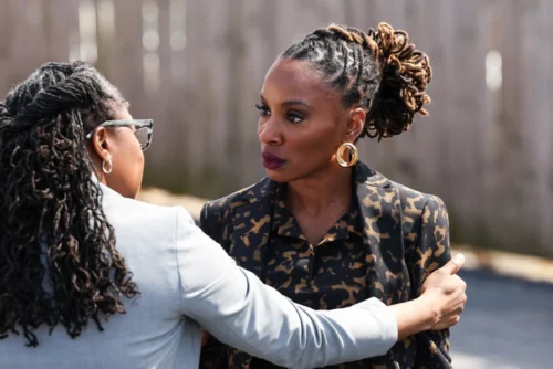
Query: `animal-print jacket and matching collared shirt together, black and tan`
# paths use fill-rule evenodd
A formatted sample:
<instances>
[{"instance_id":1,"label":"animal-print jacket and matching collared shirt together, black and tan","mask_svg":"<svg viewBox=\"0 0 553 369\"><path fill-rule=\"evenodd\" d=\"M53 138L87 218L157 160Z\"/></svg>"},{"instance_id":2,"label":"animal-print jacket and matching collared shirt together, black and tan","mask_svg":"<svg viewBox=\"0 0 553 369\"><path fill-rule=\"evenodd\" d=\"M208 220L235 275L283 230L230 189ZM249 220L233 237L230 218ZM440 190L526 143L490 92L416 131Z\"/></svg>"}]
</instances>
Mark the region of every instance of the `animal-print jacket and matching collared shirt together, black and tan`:
<instances>
[{"instance_id":1,"label":"animal-print jacket and matching collared shirt together, black and tan","mask_svg":"<svg viewBox=\"0 0 553 369\"><path fill-rule=\"evenodd\" d=\"M284 204L284 187L265 178L208 202L202 230L238 265L292 301L315 309L369 297L387 305L417 297L426 276L450 259L446 205L389 181L363 164L354 168L349 211L312 246ZM328 368L452 368L449 330L398 341L382 357ZM200 368L279 368L212 338Z\"/></svg>"}]
</instances>

